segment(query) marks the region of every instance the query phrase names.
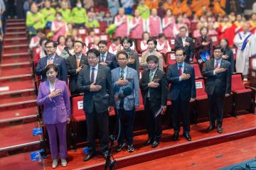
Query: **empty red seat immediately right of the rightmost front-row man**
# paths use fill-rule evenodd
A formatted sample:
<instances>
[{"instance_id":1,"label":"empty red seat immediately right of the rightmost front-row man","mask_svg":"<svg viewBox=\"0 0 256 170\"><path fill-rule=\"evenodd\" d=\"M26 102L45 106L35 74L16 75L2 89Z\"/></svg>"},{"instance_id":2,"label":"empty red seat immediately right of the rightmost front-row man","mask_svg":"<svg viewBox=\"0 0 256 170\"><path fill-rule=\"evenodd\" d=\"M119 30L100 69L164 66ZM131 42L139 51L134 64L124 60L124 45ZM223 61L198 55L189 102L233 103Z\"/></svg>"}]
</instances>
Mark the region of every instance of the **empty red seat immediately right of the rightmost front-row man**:
<instances>
[{"instance_id":1,"label":"empty red seat immediately right of the rightmost front-row man","mask_svg":"<svg viewBox=\"0 0 256 170\"><path fill-rule=\"evenodd\" d=\"M234 94L234 114L237 115L236 112L242 110L254 111L255 90L244 86L242 83L242 74L233 74L231 82L231 91Z\"/></svg>"}]
</instances>

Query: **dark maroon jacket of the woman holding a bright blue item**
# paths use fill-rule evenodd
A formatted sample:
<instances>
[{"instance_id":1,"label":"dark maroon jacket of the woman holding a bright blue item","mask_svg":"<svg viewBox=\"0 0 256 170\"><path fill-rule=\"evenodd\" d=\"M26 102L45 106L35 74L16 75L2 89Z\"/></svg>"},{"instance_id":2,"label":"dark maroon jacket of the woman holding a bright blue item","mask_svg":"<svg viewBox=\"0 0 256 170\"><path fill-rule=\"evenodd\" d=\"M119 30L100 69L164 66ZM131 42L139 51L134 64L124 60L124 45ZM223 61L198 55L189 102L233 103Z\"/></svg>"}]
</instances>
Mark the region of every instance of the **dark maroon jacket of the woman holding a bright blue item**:
<instances>
[{"instance_id":1,"label":"dark maroon jacket of the woman holding a bright blue item","mask_svg":"<svg viewBox=\"0 0 256 170\"><path fill-rule=\"evenodd\" d=\"M202 42L210 42L208 45L204 46L202 45ZM196 51L196 60L201 59L200 54L204 51L210 51L210 57L213 57L213 41L210 37L206 37L205 40L203 40L202 37L196 38L195 42L195 51Z\"/></svg>"}]
</instances>

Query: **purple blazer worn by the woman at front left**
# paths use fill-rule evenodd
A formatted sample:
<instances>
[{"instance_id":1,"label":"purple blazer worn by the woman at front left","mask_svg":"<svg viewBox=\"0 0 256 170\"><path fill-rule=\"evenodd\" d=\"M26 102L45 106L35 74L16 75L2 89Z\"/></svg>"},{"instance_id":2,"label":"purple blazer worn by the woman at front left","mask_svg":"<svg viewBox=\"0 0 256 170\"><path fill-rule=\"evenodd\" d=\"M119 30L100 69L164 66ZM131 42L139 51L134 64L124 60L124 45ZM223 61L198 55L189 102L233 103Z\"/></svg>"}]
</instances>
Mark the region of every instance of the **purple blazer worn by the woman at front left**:
<instances>
[{"instance_id":1,"label":"purple blazer worn by the woman at front left","mask_svg":"<svg viewBox=\"0 0 256 170\"><path fill-rule=\"evenodd\" d=\"M61 94L49 98L49 81L44 81L39 86L37 103L44 106L43 123L45 124L64 123L70 118L70 98L65 81L56 79L55 89L61 89Z\"/></svg>"}]
</instances>

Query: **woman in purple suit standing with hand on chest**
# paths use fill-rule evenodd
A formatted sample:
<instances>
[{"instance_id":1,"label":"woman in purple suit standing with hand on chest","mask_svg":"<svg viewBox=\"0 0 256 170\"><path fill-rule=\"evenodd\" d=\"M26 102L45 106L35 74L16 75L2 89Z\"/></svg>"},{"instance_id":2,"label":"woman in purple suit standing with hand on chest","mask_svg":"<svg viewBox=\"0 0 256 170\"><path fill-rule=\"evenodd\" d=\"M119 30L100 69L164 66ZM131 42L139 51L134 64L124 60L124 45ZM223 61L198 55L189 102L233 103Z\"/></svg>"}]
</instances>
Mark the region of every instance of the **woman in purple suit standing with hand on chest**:
<instances>
[{"instance_id":1,"label":"woman in purple suit standing with hand on chest","mask_svg":"<svg viewBox=\"0 0 256 170\"><path fill-rule=\"evenodd\" d=\"M61 165L67 166L66 126L70 123L70 99L65 81L56 79L58 69L55 64L46 67L47 81L39 86L38 105L43 105L43 123L46 124L50 140L52 167L58 166L58 144L60 146Z\"/></svg>"}]
</instances>

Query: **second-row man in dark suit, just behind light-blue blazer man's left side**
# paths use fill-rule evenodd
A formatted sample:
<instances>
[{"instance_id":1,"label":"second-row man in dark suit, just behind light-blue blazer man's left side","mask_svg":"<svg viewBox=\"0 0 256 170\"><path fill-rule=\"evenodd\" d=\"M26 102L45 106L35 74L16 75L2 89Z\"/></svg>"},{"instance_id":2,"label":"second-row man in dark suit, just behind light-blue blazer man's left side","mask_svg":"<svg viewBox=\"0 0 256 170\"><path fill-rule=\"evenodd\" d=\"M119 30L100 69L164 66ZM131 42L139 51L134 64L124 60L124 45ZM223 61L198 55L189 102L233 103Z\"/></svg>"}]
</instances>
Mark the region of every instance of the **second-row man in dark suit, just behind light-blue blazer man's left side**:
<instances>
[{"instance_id":1,"label":"second-row man in dark suit, just behind light-blue blazer man's left side","mask_svg":"<svg viewBox=\"0 0 256 170\"><path fill-rule=\"evenodd\" d=\"M98 43L100 51L100 64L110 67L110 69L117 68L116 56L107 51L107 41L101 40Z\"/></svg>"}]
</instances>

